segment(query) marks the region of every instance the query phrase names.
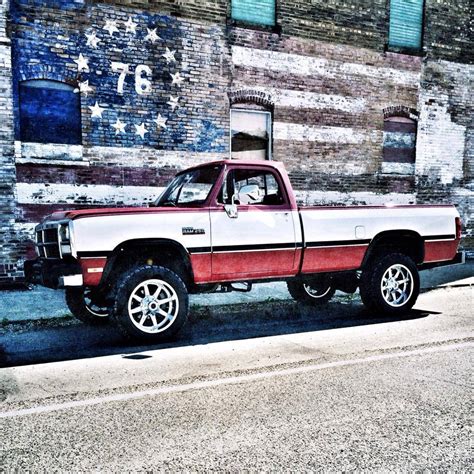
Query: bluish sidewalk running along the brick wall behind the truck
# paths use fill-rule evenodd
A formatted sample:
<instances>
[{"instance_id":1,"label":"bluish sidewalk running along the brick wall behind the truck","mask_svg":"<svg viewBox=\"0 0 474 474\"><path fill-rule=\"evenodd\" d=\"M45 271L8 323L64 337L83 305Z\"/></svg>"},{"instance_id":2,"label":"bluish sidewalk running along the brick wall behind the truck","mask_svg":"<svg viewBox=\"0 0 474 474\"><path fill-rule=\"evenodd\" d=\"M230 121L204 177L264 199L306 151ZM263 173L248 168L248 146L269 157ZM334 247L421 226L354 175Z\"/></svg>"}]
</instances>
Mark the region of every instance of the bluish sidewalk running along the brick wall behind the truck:
<instances>
[{"instance_id":1,"label":"bluish sidewalk running along the brick wall behind the truck","mask_svg":"<svg viewBox=\"0 0 474 474\"><path fill-rule=\"evenodd\" d=\"M434 268L420 273L422 290L456 285L474 287L474 261L464 265ZM341 293L342 294L342 293ZM286 283L254 285L249 293L208 293L191 295L194 306L223 306L291 299ZM33 290L0 291L0 323L70 318L64 291L36 286Z\"/></svg>"}]
</instances>

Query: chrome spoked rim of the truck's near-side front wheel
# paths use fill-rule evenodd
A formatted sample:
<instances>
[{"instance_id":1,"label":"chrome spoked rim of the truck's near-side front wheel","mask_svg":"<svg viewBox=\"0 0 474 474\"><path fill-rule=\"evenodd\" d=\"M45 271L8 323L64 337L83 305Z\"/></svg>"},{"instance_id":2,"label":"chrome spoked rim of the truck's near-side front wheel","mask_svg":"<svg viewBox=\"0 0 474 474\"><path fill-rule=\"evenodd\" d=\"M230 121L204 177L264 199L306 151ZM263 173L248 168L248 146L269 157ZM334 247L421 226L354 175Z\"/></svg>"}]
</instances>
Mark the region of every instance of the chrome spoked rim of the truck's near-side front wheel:
<instances>
[{"instance_id":1,"label":"chrome spoked rim of the truck's near-side front wheel","mask_svg":"<svg viewBox=\"0 0 474 474\"><path fill-rule=\"evenodd\" d=\"M174 288L159 279L137 285L128 299L128 316L134 326L148 334L166 331L179 312L178 295Z\"/></svg>"}]
</instances>

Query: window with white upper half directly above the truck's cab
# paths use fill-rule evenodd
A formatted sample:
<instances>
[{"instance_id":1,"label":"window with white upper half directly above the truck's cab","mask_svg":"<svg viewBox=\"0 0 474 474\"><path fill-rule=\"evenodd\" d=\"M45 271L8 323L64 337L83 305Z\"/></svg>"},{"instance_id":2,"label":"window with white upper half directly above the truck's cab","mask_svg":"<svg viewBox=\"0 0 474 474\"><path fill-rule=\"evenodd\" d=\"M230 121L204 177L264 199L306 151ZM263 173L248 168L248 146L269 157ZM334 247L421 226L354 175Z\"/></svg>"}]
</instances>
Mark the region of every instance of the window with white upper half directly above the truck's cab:
<instances>
[{"instance_id":1,"label":"window with white upper half directly above the truck's cab","mask_svg":"<svg viewBox=\"0 0 474 474\"><path fill-rule=\"evenodd\" d=\"M271 113L254 110L231 111L231 156L238 160L269 160Z\"/></svg>"}]
</instances>

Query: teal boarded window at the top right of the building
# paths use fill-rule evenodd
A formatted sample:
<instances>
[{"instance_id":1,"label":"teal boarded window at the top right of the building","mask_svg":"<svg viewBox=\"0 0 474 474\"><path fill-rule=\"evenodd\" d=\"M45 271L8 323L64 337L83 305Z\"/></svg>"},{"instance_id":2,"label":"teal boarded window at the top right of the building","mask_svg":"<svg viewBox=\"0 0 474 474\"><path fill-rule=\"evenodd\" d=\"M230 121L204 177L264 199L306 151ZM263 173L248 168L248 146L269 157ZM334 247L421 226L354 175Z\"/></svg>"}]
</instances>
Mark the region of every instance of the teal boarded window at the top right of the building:
<instances>
[{"instance_id":1,"label":"teal boarded window at the top right of the building","mask_svg":"<svg viewBox=\"0 0 474 474\"><path fill-rule=\"evenodd\" d=\"M423 0L390 0L389 47L419 50L422 24Z\"/></svg>"}]
</instances>

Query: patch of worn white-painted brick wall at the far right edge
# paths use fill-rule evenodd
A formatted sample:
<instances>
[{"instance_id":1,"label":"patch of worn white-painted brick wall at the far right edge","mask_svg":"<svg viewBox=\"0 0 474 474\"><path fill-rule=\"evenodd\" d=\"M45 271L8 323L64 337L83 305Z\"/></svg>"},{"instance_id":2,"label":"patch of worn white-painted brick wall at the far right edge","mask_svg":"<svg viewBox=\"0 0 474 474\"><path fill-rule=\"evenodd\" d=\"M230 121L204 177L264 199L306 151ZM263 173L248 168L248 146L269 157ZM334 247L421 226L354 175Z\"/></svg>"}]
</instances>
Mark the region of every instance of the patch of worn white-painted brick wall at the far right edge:
<instances>
[{"instance_id":1,"label":"patch of worn white-painted brick wall at the far right edge","mask_svg":"<svg viewBox=\"0 0 474 474\"><path fill-rule=\"evenodd\" d=\"M445 60L427 61L418 109L418 201L456 204L465 228L463 244L473 249L472 66Z\"/></svg>"}]
</instances>

